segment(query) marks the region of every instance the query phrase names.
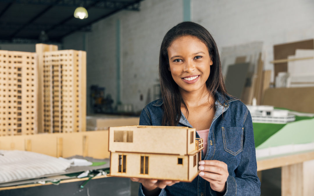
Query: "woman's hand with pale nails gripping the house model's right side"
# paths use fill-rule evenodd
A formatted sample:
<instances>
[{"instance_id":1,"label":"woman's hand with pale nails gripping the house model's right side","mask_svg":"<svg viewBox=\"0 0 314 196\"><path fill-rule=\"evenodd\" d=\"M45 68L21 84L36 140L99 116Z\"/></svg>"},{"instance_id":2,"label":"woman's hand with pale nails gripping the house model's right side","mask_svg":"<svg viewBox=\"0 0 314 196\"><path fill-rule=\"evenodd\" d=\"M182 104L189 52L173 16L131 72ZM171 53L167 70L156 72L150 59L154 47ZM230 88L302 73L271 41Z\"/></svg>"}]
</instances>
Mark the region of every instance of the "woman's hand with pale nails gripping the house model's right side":
<instances>
[{"instance_id":1,"label":"woman's hand with pale nails gripping the house model's right side","mask_svg":"<svg viewBox=\"0 0 314 196\"><path fill-rule=\"evenodd\" d=\"M208 181L214 191L224 193L229 176L227 164L217 160L203 160L199 164L198 169L201 170L199 176Z\"/></svg>"}]
</instances>

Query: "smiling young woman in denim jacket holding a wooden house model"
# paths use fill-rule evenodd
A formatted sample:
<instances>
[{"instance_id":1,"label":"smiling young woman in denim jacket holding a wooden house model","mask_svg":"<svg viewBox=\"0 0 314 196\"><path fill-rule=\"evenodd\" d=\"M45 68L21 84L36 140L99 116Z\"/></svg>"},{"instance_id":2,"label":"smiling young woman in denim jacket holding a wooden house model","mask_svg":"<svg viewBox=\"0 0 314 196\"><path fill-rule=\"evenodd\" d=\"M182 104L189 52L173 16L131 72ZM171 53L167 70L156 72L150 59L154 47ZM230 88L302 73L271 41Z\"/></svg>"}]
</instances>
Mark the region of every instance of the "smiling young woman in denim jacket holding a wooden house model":
<instances>
[{"instance_id":1,"label":"smiling young woman in denim jacket holding a wooden house model","mask_svg":"<svg viewBox=\"0 0 314 196\"><path fill-rule=\"evenodd\" d=\"M260 195L251 115L227 94L209 32L193 22L170 29L159 75L162 98L145 106L139 124L196 128L204 139L201 172L192 183L132 178L139 195Z\"/></svg>"}]
</instances>

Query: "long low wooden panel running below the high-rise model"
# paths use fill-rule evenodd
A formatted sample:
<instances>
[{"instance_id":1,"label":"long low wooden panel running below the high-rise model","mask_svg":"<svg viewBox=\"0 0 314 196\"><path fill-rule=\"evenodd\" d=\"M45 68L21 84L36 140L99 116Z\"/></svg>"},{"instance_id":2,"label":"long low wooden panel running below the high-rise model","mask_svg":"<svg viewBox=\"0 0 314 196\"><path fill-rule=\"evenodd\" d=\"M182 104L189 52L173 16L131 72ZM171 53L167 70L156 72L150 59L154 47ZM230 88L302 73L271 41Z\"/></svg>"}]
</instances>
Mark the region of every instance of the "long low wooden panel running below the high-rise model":
<instances>
[{"instance_id":1,"label":"long low wooden panel running below the high-rise model","mask_svg":"<svg viewBox=\"0 0 314 196\"><path fill-rule=\"evenodd\" d=\"M85 147L83 147L84 136L88 138L88 143L85 140ZM81 155L105 159L109 158L108 130L3 136L0 137L0 149L30 150L49 156L63 155L63 157L70 157ZM83 154L84 152L85 154Z\"/></svg>"}]
</instances>

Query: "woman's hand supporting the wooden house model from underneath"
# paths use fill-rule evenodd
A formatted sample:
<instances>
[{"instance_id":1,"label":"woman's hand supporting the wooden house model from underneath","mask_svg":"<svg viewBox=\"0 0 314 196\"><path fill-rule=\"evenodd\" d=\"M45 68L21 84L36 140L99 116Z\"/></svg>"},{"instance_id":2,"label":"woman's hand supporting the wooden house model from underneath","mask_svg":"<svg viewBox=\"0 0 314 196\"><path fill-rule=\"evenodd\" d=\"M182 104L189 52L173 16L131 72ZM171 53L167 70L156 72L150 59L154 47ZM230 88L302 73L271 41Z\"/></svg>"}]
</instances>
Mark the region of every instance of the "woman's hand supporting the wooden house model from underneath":
<instances>
[{"instance_id":1,"label":"woman's hand supporting the wooden house model from underneath","mask_svg":"<svg viewBox=\"0 0 314 196\"><path fill-rule=\"evenodd\" d=\"M131 178L133 182L142 183L145 190L143 190L144 194L147 195L155 195L154 193L160 193L160 189L165 188L166 186L172 186L179 181L172 180L156 180L156 179L145 179L145 178ZM146 193L145 193L146 192ZM157 195L158 195L157 194Z\"/></svg>"}]
</instances>

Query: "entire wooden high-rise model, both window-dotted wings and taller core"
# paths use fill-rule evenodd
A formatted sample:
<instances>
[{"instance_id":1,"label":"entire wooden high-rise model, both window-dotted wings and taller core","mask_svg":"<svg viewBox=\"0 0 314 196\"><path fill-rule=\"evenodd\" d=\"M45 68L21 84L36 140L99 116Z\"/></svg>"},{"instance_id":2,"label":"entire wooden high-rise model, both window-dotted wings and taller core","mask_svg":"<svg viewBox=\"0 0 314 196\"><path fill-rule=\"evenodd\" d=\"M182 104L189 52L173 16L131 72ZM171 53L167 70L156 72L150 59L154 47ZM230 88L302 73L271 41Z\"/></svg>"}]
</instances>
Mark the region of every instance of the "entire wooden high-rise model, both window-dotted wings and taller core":
<instances>
[{"instance_id":1,"label":"entire wooden high-rise model, both window-dotted wings and taller core","mask_svg":"<svg viewBox=\"0 0 314 196\"><path fill-rule=\"evenodd\" d=\"M0 50L0 136L85 131L86 52Z\"/></svg>"}]
</instances>

